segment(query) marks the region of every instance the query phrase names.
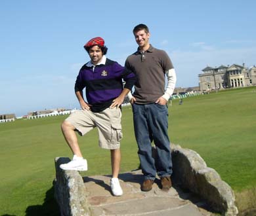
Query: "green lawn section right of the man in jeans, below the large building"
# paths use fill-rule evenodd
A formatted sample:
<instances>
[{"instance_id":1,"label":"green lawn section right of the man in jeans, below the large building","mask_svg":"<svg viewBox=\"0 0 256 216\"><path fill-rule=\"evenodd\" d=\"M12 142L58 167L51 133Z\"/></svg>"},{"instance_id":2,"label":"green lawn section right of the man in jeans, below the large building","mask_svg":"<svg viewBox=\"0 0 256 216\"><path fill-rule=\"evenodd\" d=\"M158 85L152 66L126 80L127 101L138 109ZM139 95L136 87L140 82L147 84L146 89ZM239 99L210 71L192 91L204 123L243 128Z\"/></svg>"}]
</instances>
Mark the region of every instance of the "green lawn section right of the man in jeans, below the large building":
<instances>
[{"instance_id":1,"label":"green lawn section right of the man in jeans, below the large building","mask_svg":"<svg viewBox=\"0 0 256 216\"><path fill-rule=\"evenodd\" d=\"M232 189L256 185L256 87L173 101L171 142L199 153Z\"/></svg>"}]
</instances>

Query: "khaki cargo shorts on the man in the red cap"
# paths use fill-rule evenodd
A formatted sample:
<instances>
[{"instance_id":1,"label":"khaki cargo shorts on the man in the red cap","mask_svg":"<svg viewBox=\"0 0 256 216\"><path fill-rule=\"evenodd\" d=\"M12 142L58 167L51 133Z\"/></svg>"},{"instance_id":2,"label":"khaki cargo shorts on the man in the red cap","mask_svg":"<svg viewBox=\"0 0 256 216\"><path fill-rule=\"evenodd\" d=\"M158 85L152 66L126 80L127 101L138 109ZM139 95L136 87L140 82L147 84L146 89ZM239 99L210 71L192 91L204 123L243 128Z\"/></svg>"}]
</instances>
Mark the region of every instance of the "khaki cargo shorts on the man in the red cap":
<instances>
[{"instance_id":1,"label":"khaki cargo shorts on the man in the red cap","mask_svg":"<svg viewBox=\"0 0 256 216\"><path fill-rule=\"evenodd\" d=\"M121 132L121 110L107 108L100 113L77 110L66 118L79 135L85 135L93 128L98 128L98 145L102 149L119 149Z\"/></svg>"}]
</instances>

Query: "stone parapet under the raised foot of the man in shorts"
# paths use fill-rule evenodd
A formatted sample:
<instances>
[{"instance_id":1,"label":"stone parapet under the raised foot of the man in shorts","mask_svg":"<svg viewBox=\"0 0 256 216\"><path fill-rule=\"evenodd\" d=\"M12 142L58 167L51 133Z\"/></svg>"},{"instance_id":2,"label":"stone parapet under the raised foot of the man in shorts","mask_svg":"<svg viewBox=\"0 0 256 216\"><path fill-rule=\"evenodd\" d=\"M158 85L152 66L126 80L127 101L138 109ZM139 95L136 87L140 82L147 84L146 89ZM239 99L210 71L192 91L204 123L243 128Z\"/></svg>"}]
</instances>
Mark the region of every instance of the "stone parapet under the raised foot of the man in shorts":
<instances>
[{"instance_id":1,"label":"stone parapet under the raised foot of the man in shorts","mask_svg":"<svg viewBox=\"0 0 256 216\"><path fill-rule=\"evenodd\" d=\"M62 170L60 164L66 164L70 158L55 158L56 179L54 196L63 216L89 216L89 204L85 185L78 171Z\"/></svg>"}]
</instances>

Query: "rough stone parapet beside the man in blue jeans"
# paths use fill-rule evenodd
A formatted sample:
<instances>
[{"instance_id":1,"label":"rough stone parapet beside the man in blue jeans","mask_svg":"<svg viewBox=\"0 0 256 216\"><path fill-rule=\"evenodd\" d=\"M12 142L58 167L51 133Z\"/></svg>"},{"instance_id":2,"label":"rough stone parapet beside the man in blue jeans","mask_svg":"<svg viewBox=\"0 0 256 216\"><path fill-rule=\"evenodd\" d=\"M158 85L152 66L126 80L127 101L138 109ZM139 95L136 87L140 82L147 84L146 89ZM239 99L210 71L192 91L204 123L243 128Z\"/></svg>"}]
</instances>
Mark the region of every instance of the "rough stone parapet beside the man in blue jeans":
<instances>
[{"instance_id":1,"label":"rough stone parapet beside the man in blue jeans","mask_svg":"<svg viewBox=\"0 0 256 216\"><path fill-rule=\"evenodd\" d=\"M201 156L195 151L182 149L177 145L171 147L174 181L182 188L199 194L222 215L237 215L234 192L221 180L217 171L207 168Z\"/></svg>"}]
</instances>

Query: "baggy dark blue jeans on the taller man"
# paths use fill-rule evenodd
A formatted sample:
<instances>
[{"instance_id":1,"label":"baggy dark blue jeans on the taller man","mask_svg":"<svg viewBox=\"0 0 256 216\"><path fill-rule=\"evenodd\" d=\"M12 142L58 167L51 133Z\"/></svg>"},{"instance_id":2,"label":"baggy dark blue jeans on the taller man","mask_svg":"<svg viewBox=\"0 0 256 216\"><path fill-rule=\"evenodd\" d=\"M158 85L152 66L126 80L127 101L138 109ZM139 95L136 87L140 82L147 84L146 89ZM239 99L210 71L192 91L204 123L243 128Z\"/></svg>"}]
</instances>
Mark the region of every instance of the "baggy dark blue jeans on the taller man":
<instances>
[{"instance_id":1,"label":"baggy dark blue jeans on the taller man","mask_svg":"<svg viewBox=\"0 0 256 216\"><path fill-rule=\"evenodd\" d=\"M171 176L171 147L168 137L168 109L158 103L133 104L133 124L144 179ZM156 157L152 157L152 141Z\"/></svg>"}]
</instances>

